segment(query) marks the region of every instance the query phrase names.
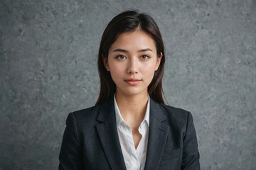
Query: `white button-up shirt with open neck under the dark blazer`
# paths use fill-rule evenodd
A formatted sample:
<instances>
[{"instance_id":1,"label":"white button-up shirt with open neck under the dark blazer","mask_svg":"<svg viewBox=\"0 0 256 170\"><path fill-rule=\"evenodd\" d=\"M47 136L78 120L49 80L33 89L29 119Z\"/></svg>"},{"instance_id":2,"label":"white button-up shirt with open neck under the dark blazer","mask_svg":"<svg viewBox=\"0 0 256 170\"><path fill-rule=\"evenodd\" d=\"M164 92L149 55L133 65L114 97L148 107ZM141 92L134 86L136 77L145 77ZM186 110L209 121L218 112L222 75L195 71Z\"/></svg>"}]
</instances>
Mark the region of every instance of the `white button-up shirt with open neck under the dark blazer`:
<instances>
[{"instance_id":1,"label":"white button-up shirt with open neck under the dark blazer","mask_svg":"<svg viewBox=\"0 0 256 170\"><path fill-rule=\"evenodd\" d=\"M150 102L148 101L144 120L142 120L142 123L139 125L139 133L142 135L142 139L139 141L137 149L135 149L132 137L132 128L129 127L122 118L114 96L117 132L127 170L142 170L145 167L146 150L149 137L149 103Z\"/></svg>"}]
</instances>

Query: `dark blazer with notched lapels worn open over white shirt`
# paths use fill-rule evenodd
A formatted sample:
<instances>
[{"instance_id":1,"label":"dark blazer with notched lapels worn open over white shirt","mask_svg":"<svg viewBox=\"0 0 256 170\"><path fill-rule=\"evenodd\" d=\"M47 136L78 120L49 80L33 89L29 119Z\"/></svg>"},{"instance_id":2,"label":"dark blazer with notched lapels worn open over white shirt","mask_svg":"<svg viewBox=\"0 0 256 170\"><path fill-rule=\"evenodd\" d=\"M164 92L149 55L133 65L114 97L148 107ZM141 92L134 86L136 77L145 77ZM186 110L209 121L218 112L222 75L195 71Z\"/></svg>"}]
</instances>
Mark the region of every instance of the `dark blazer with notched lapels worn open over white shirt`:
<instances>
[{"instance_id":1,"label":"dark blazer with notched lapels worn open over white shirt","mask_svg":"<svg viewBox=\"0 0 256 170\"><path fill-rule=\"evenodd\" d=\"M191 113L150 99L145 169L200 169ZM70 113L60 149L59 170L126 169L117 134L114 99Z\"/></svg>"}]
</instances>

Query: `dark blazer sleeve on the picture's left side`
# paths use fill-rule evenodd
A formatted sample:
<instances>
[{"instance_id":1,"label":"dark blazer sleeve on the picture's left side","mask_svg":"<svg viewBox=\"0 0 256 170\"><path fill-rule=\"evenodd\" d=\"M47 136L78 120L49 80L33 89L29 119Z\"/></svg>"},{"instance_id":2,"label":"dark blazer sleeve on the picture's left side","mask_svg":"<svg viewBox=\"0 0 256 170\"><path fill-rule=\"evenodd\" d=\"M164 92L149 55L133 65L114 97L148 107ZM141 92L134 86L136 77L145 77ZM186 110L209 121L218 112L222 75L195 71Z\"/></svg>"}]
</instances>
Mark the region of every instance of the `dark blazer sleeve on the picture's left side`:
<instances>
[{"instance_id":1,"label":"dark blazer sleeve on the picture's left side","mask_svg":"<svg viewBox=\"0 0 256 170\"><path fill-rule=\"evenodd\" d=\"M82 169L82 154L75 115L70 113L66 120L66 128L60 148L59 170Z\"/></svg>"}]
</instances>

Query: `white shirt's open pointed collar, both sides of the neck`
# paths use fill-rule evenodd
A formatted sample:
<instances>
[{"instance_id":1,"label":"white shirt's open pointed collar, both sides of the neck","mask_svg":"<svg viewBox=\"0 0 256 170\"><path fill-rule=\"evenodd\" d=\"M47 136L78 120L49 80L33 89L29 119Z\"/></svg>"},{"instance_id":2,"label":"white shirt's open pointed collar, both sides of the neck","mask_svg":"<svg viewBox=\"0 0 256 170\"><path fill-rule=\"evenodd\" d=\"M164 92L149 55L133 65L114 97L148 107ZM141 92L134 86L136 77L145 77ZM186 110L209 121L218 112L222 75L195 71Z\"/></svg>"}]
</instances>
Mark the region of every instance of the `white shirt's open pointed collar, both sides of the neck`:
<instances>
[{"instance_id":1,"label":"white shirt's open pointed collar, both sides of the neck","mask_svg":"<svg viewBox=\"0 0 256 170\"><path fill-rule=\"evenodd\" d=\"M144 121L146 121L147 125L149 126L149 108L150 108L150 98L146 104L146 113L145 113L145 117L142 120L142 123L144 123ZM119 108L117 106L117 101L115 98L115 94L114 94L114 111L115 111L115 116L116 116L116 122L117 122L117 126L120 125L120 123L122 123L124 121L124 119L122 118L122 115L119 111Z\"/></svg>"}]
</instances>

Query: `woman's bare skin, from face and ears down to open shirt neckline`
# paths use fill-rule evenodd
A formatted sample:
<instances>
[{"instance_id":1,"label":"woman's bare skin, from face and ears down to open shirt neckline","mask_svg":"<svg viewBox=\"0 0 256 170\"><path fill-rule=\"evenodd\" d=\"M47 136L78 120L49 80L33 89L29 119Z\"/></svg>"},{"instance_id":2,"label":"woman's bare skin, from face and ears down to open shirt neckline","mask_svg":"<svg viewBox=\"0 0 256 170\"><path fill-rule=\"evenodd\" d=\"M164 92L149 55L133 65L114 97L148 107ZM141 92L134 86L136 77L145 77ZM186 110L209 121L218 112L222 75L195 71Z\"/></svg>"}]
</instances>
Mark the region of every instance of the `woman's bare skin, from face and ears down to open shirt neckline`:
<instances>
[{"instance_id":1,"label":"woman's bare skin, from face and ears down to open shirt neckline","mask_svg":"<svg viewBox=\"0 0 256 170\"><path fill-rule=\"evenodd\" d=\"M104 61L117 86L117 105L124 121L132 128L136 148L142 138L138 128L149 100L147 89L160 62L154 40L142 30L120 34Z\"/></svg>"}]
</instances>

